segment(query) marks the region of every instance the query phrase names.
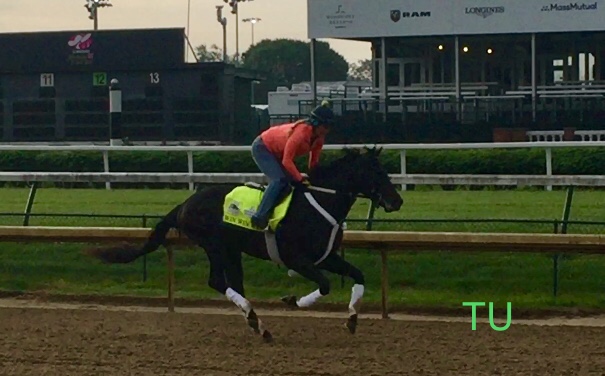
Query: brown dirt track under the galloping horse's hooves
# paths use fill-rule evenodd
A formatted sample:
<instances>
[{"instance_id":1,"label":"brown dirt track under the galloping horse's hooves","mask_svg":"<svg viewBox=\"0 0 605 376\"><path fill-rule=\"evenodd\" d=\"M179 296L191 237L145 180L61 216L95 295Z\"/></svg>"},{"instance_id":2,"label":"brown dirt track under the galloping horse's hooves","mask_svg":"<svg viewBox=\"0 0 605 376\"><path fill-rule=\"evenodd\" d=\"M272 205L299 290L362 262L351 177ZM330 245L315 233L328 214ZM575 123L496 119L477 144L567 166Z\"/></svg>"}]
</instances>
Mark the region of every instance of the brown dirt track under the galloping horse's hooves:
<instances>
[{"instance_id":1,"label":"brown dirt track under the galloping horse's hooves","mask_svg":"<svg viewBox=\"0 0 605 376\"><path fill-rule=\"evenodd\" d=\"M0 305L2 375L605 374L602 320L569 322L575 326L540 323L545 326L513 317L507 331L496 332L485 323L472 331L470 318L362 317L352 336L342 325L343 315L262 312L275 337L264 344L239 314L221 310L177 308L169 314L165 309L15 299L0 300Z\"/></svg>"}]
</instances>

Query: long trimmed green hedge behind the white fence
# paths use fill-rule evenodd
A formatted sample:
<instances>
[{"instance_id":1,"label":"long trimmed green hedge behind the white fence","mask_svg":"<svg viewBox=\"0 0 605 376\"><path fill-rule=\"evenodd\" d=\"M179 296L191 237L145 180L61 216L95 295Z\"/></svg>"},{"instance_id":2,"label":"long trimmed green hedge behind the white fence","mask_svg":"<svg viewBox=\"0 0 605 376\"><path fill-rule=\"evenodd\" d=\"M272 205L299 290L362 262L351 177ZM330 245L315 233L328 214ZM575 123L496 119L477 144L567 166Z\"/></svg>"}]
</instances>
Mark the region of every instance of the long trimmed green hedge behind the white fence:
<instances>
[{"instance_id":1,"label":"long trimmed green hedge behind the white fence","mask_svg":"<svg viewBox=\"0 0 605 376\"><path fill-rule=\"evenodd\" d=\"M338 151L324 151L322 161ZM552 149L553 174L600 175L604 172L604 148ZM390 173L398 173L399 152L384 151L382 161ZM544 174L543 149L410 150L407 172L423 174ZM297 165L304 171L306 158ZM187 172L184 152L113 152L113 172ZM0 171L102 172L100 152L0 152ZM249 152L196 152L195 172L258 172ZM125 186L133 186L127 184Z\"/></svg>"}]
</instances>

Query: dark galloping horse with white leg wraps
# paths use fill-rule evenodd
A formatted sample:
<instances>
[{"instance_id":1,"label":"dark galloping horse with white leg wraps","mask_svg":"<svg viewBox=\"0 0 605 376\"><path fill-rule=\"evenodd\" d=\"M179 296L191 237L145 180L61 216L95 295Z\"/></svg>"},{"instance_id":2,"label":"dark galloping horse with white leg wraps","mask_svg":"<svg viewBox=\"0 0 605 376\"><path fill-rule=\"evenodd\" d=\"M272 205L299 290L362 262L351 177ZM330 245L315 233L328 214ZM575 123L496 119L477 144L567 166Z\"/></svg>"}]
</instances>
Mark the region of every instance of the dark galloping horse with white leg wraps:
<instances>
[{"instance_id":1,"label":"dark galloping horse with white leg wraps","mask_svg":"<svg viewBox=\"0 0 605 376\"><path fill-rule=\"evenodd\" d=\"M282 298L293 307L309 307L330 293L330 282L321 270L347 276L355 284L346 325L355 333L365 279L359 269L336 251L342 241L342 223L360 195L386 212L397 211L403 204L380 163L381 151L344 149L339 159L309 171L313 186L294 188L287 213L274 232L225 223L224 200L234 186L217 185L194 193L172 209L155 226L142 247L98 248L90 254L106 263L129 263L158 249L168 231L177 228L206 251L210 263L209 286L235 303L243 311L248 325L266 340L272 336L245 298L242 252L263 260L279 261L317 284L317 290L300 299Z\"/></svg>"}]
</instances>

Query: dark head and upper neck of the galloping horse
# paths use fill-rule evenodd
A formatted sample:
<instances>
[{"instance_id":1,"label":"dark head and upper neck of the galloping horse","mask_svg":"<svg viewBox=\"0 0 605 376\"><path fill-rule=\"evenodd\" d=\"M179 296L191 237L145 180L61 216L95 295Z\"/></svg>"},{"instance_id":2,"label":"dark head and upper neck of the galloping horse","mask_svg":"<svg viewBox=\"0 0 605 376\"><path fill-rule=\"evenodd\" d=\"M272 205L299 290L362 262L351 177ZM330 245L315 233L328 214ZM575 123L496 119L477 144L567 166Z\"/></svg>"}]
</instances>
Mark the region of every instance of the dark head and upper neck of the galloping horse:
<instances>
[{"instance_id":1,"label":"dark head and upper neck of the galloping horse","mask_svg":"<svg viewBox=\"0 0 605 376\"><path fill-rule=\"evenodd\" d=\"M403 200L380 163L381 151L382 148L345 149L345 155L323 170L321 175L330 179L331 185L338 190L367 196L387 213L397 211ZM309 177L312 182L315 180L313 174Z\"/></svg>"}]
</instances>

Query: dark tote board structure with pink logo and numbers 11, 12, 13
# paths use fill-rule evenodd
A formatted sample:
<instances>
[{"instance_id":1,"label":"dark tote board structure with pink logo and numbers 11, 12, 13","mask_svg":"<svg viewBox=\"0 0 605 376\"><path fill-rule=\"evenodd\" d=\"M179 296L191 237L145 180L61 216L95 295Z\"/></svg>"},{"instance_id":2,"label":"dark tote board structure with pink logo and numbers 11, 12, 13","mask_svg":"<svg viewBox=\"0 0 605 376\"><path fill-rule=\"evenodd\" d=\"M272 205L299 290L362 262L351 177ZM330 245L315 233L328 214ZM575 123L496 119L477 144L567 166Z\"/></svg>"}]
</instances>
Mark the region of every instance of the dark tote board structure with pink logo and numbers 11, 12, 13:
<instances>
[{"instance_id":1,"label":"dark tote board structure with pink logo and numbers 11, 12, 13","mask_svg":"<svg viewBox=\"0 0 605 376\"><path fill-rule=\"evenodd\" d=\"M186 45L183 28L1 33L0 141L108 141L115 78L127 142L249 143L262 75L187 63Z\"/></svg>"}]
</instances>

